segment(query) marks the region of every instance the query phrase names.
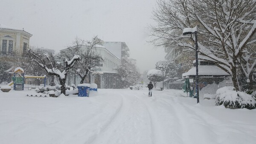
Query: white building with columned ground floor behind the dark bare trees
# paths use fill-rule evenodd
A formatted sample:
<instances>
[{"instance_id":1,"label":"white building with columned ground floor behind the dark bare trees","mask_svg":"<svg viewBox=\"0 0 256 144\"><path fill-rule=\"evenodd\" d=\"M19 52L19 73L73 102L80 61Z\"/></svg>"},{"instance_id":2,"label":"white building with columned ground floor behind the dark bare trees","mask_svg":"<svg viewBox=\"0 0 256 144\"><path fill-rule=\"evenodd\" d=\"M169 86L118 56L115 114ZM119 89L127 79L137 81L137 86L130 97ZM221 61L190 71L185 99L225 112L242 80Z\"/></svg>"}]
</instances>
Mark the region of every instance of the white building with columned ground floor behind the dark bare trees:
<instances>
[{"instance_id":1,"label":"white building with columned ground floor behind the dark bare trees","mask_svg":"<svg viewBox=\"0 0 256 144\"><path fill-rule=\"evenodd\" d=\"M89 46L81 46L81 49L88 49ZM65 49L61 50L61 52ZM101 55L103 62L99 64L93 72L90 72L84 83L95 83L101 89L119 89L121 88L121 76L116 72L117 66L121 65L121 59L117 58L104 46L97 45L93 49L97 54ZM80 84L81 78L76 74L67 76L67 85Z\"/></svg>"}]
</instances>

